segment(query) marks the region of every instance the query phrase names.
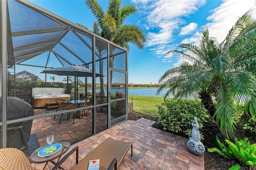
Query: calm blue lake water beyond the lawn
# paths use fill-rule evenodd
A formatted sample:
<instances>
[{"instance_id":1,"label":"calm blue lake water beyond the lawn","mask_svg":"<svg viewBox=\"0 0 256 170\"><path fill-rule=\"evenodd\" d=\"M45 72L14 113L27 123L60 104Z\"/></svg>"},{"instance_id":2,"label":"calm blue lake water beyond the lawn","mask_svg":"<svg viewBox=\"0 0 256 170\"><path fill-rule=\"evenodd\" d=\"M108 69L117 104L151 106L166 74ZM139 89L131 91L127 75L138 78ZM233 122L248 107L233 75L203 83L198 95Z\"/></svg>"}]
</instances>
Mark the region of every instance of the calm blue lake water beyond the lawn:
<instances>
[{"instance_id":1,"label":"calm blue lake water beyond the lawn","mask_svg":"<svg viewBox=\"0 0 256 170\"><path fill-rule=\"evenodd\" d=\"M158 88L143 88L143 89L128 89L128 95L136 95L136 96L151 96L151 97L163 97L168 89L164 89L159 95L156 95L156 91ZM88 90L92 92L92 90ZM124 89L112 89L112 91L117 91L119 93L123 93ZM100 89L96 89L96 92L99 93ZM169 98L173 96L170 95Z\"/></svg>"}]
</instances>

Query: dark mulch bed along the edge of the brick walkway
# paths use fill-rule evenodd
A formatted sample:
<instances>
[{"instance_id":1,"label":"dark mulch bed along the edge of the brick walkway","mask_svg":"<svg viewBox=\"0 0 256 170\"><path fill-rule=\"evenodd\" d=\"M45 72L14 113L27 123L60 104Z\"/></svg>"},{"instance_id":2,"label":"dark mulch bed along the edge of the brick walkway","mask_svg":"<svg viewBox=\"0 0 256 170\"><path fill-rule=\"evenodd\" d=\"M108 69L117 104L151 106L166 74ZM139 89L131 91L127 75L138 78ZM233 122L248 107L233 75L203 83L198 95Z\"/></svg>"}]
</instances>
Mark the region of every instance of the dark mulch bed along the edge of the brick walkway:
<instances>
[{"instance_id":1,"label":"dark mulch bed along the edge of the brick walkway","mask_svg":"<svg viewBox=\"0 0 256 170\"><path fill-rule=\"evenodd\" d=\"M129 120L136 121L140 118L148 119L151 121L158 120L158 117L144 115L141 113L132 112L128 114ZM154 123L152 127L164 130L159 123ZM164 130L164 131L167 131L167 130ZM253 168L253 167L250 168L250 166L240 162L239 160L224 158L224 156L221 156L216 152L210 153L207 151L208 148L213 148L213 147L219 148L218 143L216 141L216 136L218 136L218 138L223 144L226 144L225 136L221 134L220 129L218 127L212 126L212 125L206 125L205 128L200 129L200 131L204 135L204 140L202 140L202 143L206 148L206 151L204 152L204 169L205 170L228 170L233 165L240 165L241 170L256 170L256 168ZM177 135L188 138L188 136L186 136L185 134L177 134ZM241 140L241 139L244 139L244 137L248 137L248 141L250 141L250 144L255 143L252 137L252 134L245 134L242 128L242 124L238 124L238 126L236 127L235 138L237 138L238 140ZM235 143L234 139L230 139L230 141Z\"/></svg>"}]
</instances>

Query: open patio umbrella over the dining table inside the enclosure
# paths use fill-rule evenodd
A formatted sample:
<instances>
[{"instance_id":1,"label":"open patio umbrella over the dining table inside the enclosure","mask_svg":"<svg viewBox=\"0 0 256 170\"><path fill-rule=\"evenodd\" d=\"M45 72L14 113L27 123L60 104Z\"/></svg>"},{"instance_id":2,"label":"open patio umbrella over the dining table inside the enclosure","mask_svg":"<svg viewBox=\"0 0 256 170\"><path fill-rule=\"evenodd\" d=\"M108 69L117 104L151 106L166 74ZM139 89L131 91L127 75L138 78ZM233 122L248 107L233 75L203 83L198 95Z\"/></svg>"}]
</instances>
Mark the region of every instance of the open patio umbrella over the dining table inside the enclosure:
<instances>
[{"instance_id":1,"label":"open patio umbrella over the dining table inside the enclosure","mask_svg":"<svg viewBox=\"0 0 256 170\"><path fill-rule=\"evenodd\" d=\"M66 75L75 76L76 81L76 99L78 98L78 77L92 77L92 70L83 67L82 65L69 65L64 67L58 67L53 69L43 70L41 73L56 74L56 75ZM96 77L103 77L104 75L100 73L95 73Z\"/></svg>"}]
</instances>

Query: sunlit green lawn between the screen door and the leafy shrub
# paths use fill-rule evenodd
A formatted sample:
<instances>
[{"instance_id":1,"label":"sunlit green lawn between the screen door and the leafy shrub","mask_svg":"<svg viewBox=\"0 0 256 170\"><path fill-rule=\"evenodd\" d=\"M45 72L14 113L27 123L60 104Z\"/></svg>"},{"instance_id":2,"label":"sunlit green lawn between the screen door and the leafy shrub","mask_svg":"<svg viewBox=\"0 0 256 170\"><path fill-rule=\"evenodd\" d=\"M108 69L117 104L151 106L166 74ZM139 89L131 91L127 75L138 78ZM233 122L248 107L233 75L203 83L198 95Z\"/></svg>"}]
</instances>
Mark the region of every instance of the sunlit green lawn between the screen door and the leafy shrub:
<instances>
[{"instance_id":1,"label":"sunlit green lawn between the screen door and the leafy shrub","mask_svg":"<svg viewBox=\"0 0 256 170\"><path fill-rule=\"evenodd\" d=\"M133 97L133 100L131 100ZM156 105L164 102L163 97L148 97L148 96L128 96L128 102L133 102L133 111L145 115L159 116Z\"/></svg>"}]
</instances>

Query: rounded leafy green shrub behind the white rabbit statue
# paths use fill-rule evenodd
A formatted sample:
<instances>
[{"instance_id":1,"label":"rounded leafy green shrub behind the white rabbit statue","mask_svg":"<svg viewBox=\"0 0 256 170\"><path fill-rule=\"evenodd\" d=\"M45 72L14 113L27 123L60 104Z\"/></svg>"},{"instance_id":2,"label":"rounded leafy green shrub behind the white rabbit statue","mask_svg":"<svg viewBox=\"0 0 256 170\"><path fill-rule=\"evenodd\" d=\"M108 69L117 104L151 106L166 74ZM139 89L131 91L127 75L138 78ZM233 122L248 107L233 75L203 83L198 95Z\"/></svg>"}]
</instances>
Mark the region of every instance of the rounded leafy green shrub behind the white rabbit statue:
<instances>
[{"instance_id":1,"label":"rounded leafy green shrub behind the white rabbit statue","mask_svg":"<svg viewBox=\"0 0 256 170\"><path fill-rule=\"evenodd\" d=\"M162 125L164 130L172 132L184 132L191 136L191 120L197 117L199 130L203 127L203 123L207 122L210 114L198 100L180 100L168 99L165 103L157 105L159 119L158 123ZM203 139L202 134L200 134Z\"/></svg>"}]
</instances>

